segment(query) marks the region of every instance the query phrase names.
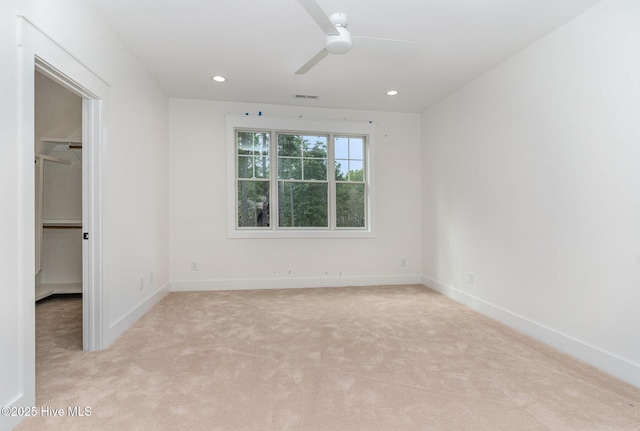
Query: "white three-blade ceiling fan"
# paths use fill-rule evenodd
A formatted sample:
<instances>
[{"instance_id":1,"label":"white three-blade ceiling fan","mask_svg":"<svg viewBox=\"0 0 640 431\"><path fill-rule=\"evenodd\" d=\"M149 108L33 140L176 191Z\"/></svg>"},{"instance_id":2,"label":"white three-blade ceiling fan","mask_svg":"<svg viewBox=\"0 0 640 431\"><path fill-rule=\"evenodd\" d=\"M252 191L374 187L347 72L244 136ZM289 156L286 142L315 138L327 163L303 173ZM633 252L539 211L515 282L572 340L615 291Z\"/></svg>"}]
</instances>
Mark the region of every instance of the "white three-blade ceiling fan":
<instances>
[{"instance_id":1,"label":"white three-blade ceiling fan","mask_svg":"<svg viewBox=\"0 0 640 431\"><path fill-rule=\"evenodd\" d=\"M347 15L341 12L328 15L316 3L316 0L298 0L302 7L307 10L311 18L320 26L325 33L324 48L320 50L311 60L307 61L296 75L307 73L313 66L318 64L329 54L346 54L351 51L353 41L356 46L368 46L373 49L381 49L395 52L411 52L417 48L417 44L408 40L382 39L377 37L352 36L347 30Z\"/></svg>"}]
</instances>

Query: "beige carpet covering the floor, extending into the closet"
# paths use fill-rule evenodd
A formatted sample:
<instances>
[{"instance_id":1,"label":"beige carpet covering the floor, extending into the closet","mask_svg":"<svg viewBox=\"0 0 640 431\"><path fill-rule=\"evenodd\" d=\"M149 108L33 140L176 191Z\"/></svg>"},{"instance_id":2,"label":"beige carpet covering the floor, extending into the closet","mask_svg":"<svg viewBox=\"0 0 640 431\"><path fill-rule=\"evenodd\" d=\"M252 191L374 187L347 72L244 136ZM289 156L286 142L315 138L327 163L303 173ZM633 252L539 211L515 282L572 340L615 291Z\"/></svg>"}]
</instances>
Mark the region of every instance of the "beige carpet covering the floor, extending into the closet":
<instances>
[{"instance_id":1,"label":"beige carpet covering the floor, extending into the closet","mask_svg":"<svg viewBox=\"0 0 640 431\"><path fill-rule=\"evenodd\" d=\"M65 416L20 431L640 430L640 389L421 286L171 293L102 352L80 305L37 306Z\"/></svg>"}]
</instances>

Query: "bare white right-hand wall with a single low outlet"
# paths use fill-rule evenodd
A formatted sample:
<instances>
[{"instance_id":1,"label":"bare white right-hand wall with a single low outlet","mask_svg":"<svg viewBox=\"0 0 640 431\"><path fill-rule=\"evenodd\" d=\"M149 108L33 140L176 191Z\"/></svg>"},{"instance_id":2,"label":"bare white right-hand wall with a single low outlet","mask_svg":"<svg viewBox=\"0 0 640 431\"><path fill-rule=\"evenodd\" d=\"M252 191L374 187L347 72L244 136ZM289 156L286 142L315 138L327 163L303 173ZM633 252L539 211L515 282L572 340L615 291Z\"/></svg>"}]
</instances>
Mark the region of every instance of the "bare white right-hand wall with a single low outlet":
<instances>
[{"instance_id":1,"label":"bare white right-hand wall with a single low outlet","mask_svg":"<svg viewBox=\"0 0 640 431\"><path fill-rule=\"evenodd\" d=\"M639 22L603 1L422 118L424 283L638 386Z\"/></svg>"}]
</instances>

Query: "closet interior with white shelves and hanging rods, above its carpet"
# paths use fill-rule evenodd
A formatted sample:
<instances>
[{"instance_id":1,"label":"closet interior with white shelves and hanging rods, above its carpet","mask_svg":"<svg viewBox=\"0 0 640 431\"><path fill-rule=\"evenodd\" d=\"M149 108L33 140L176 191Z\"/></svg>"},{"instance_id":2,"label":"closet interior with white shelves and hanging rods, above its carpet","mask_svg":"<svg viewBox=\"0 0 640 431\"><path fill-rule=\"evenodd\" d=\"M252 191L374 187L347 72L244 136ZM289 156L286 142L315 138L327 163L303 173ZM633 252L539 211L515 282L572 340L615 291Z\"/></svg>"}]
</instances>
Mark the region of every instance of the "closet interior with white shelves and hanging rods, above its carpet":
<instances>
[{"instance_id":1,"label":"closet interior with white shelves and hanging rods, above its carpet","mask_svg":"<svg viewBox=\"0 0 640 431\"><path fill-rule=\"evenodd\" d=\"M82 98L35 79L36 301L82 293Z\"/></svg>"}]
</instances>

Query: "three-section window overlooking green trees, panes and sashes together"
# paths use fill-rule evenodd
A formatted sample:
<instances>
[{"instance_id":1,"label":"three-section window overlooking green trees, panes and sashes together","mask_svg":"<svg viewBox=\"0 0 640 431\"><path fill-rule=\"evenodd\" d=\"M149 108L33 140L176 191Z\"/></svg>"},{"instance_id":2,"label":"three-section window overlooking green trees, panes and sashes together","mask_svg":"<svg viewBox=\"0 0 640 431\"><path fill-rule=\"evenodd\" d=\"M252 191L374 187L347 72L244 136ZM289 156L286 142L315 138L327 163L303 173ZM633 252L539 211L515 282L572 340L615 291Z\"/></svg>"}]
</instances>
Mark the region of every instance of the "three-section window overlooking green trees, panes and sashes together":
<instances>
[{"instance_id":1,"label":"three-section window overlooking green trees, panes and sashes together","mask_svg":"<svg viewBox=\"0 0 640 431\"><path fill-rule=\"evenodd\" d=\"M227 126L233 157L230 236L372 236L370 133L345 133L354 130L344 124L317 132L301 122L287 128L255 122L263 127Z\"/></svg>"}]
</instances>

